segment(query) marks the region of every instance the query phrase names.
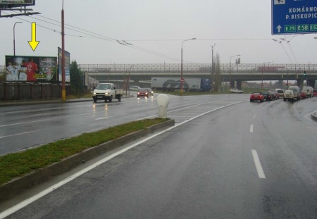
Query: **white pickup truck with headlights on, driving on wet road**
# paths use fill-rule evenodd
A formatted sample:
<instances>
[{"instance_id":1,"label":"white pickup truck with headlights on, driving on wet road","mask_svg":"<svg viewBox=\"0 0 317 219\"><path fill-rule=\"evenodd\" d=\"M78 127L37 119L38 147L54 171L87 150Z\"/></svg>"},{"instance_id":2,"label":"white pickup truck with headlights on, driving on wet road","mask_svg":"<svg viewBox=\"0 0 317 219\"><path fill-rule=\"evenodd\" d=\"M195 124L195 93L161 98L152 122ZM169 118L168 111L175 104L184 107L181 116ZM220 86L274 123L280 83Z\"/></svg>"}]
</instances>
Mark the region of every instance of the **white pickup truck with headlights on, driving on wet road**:
<instances>
[{"instance_id":1,"label":"white pickup truck with headlights on, driving on wet road","mask_svg":"<svg viewBox=\"0 0 317 219\"><path fill-rule=\"evenodd\" d=\"M123 95L123 89L116 89L111 83L100 83L94 89L94 94L92 95L92 99L96 103L98 99L103 99L105 102L108 100L112 102L112 99L118 99L121 101Z\"/></svg>"}]
</instances>

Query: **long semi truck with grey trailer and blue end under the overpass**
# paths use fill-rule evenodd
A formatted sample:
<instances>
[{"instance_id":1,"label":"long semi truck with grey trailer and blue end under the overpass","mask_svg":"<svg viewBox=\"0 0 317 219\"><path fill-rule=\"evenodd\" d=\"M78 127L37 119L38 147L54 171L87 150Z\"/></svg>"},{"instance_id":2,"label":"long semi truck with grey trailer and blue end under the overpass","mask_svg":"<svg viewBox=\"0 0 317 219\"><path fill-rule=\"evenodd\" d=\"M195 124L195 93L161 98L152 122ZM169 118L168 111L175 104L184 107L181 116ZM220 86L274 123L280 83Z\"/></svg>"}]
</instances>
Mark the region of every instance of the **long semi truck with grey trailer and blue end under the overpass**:
<instances>
[{"instance_id":1,"label":"long semi truck with grey trailer and blue end under the overpass","mask_svg":"<svg viewBox=\"0 0 317 219\"><path fill-rule=\"evenodd\" d=\"M181 88L180 77L152 77L151 87L154 90L173 92ZM182 89L189 92L209 92L211 90L211 80L197 77L184 77Z\"/></svg>"}]
</instances>

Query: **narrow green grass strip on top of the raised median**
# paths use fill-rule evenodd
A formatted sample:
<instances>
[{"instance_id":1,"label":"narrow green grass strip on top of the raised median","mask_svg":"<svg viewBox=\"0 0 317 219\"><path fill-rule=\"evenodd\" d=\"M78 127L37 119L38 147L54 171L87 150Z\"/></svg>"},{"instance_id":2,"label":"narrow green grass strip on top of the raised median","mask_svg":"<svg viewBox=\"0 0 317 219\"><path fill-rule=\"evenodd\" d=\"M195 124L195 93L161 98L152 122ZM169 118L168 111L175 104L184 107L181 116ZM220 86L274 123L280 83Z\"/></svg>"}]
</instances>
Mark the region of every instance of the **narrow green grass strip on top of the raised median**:
<instances>
[{"instance_id":1,"label":"narrow green grass strip on top of the raised median","mask_svg":"<svg viewBox=\"0 0 317 219\"><path fill-rule=\"evenodd\" d=\"M166 120L168 119L137 120L97 132L83 133L77 137L61 139L26 151L0 156L0 185L9 182L14 177L22 177L90 147L109 142L138 130L144 130L151 125L163 123Z\"/></svg>"}]
</instances>

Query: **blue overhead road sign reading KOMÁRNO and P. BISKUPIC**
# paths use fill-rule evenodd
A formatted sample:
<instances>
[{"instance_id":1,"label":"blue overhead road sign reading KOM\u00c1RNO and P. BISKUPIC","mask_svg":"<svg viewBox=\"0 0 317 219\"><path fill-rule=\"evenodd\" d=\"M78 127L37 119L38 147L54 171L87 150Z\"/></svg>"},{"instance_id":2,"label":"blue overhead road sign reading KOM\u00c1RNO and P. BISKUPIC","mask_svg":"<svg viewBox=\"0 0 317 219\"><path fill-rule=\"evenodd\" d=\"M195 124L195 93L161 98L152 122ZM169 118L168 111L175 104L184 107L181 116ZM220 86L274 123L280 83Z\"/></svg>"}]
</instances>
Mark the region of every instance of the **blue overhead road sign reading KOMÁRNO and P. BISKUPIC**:
<instances>
[{"instance_id":1,"label":"blue overhead road sign reading KOM\u00c1RNO and P. BISKUPIC","mask_svg":"<svg viewBox=\"0 0 317 219\"><path fill-rule=\"evenodd\" d=\"M271 0L272 35L317 32L316 0Z\"/></svg>"}]
</instances>

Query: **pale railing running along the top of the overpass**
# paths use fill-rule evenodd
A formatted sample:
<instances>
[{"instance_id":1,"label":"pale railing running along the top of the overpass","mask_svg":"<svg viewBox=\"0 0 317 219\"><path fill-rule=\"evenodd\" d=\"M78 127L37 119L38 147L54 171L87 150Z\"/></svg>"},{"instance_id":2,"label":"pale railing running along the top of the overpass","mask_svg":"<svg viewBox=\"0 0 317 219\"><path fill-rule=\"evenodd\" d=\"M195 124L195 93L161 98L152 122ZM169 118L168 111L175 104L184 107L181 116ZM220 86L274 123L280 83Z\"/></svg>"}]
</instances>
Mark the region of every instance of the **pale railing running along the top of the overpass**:
<instances>
[{"instance_id":1,"label":"pale railing running along the top of the overpass","mask_svg":"<svg viewBox=\"0 0 317 219\"><path fill-rule=\"evenodd\" d=\"M138 72L138 73L159 73L159 72L180 72L180 63L161 63L161 64L79 64L81 70L85 72ZM307 73L317 72L317 64L262 64L262 63L229 63L220 64L220 71L223 72L284 72L284 73ZM0 72L5 70L5 65L0 65ZM211 63L185 63L183 72L192 73L211 73Z\"/></svg>"}]
</instances>

